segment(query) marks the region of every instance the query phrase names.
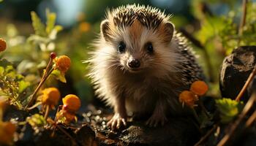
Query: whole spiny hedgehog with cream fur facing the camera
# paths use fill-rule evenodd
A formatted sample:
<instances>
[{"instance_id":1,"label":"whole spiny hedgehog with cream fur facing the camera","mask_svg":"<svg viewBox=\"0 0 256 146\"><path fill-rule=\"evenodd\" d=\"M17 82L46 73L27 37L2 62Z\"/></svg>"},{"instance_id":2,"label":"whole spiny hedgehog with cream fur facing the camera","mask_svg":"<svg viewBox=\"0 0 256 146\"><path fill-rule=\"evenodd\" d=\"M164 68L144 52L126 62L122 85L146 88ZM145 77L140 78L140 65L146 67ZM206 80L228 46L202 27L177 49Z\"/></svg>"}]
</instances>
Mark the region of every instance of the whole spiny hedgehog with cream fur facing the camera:
<instances>
[{"instance_id":1,"label":"whole spiny hedgehog with cream fur facing the camera","mask_svg":"<svg viewBox=\"0 0 256 146\"><path fill-rule=\"evenodd\" d=\"M203 80L203 72L171 16L136 4L106 12L90 53L89 77L97 96L113 107L110 128L126 126L128 113L147 116L148 126L186 113L178 95Z\"/></svg>"}]
</instances>

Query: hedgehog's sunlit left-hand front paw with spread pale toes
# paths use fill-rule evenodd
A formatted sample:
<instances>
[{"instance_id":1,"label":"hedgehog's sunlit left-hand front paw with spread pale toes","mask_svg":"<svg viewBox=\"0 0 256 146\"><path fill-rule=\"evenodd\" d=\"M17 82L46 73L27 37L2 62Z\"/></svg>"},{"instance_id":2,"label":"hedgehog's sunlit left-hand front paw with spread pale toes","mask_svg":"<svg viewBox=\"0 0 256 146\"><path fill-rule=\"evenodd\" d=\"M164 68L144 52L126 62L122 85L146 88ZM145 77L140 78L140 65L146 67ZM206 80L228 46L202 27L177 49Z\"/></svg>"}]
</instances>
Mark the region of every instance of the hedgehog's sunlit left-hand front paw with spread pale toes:
<instances>
[{"instance_id":1,"label":"hedgehog's sunlit left-hand front paw with spread pale toes","mask_svg":"<svg viewBox=\"0 0 256 146\"><path fill-rule=\"evenodd\" d=\"M120 114L115 113L113 118L108 121L107 126L110 126L112 130L120 128L121 126L127 126L127 118L126 116L121 116Z\"/></svg>"}]
</instances>

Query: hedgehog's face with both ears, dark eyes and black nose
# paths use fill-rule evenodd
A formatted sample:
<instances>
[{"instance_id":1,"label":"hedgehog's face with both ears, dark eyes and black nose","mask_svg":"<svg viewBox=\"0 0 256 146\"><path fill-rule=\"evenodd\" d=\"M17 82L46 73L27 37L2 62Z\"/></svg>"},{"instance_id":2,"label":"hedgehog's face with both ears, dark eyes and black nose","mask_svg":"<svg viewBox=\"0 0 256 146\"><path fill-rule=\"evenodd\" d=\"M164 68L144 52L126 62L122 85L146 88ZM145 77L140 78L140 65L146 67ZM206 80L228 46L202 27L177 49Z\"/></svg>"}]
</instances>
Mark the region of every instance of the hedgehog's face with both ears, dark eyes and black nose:
<instances>
[{"instance_id":1,"label":"hedgehog's face with both ears, dark eyes and black nose","mask_svg":"<svg viewBox=\"0 0 256 146\"><path fill-rule=\"evenodd\" d=\"M162 20L157 27L148 27L141 20L130 25L118 25L114 18L102 21L101 34L105 39L105 51L115 54L118 69L130 73L151 72L165 66L170 68L173 57L170 42L173 24ZM159 72L159 71L157 71Z\"/></svg>"}]
</instances>

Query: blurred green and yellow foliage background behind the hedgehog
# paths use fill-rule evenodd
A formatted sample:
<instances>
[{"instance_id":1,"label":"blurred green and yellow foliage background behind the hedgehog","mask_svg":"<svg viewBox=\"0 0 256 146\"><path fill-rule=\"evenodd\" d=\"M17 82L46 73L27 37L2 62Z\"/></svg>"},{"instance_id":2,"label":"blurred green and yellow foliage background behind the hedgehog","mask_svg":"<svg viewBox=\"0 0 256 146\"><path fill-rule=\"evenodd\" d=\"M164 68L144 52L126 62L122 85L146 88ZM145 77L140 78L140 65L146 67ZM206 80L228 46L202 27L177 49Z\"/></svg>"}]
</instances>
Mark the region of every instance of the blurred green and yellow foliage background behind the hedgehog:
<instances>
[{"instance_id":1,"label":"blurred green and yellow foliage background behind the hedgehog","mask_svg":"<svg viewBox=\"0 0 256 146\"><path fill-rule=\"evenodd\" d=\"M68 55L72 66L67 72L67 83L52 80L48 86L59 87L62 96L75 93L84 103L89 103L94 99L94 92L86 77L86 64L82 62L93 49L90 43L99 33L105 9L124 4L151 5L173 14L171 21L176 29L189 37L200 55L211 96L219 96L219 69L225 55L238 45L255 45L255 1L249 1L247 23L241 37L238 36L241 18L238 0L4 0L0 2L0 37L7 40L8 47L0 57L11 61L18 73L36 84L50 52ZM46 23L46 9L56 13L56 25L64 28L56 38L34 36L31 11Z\"/></svg>"}]
</instances>

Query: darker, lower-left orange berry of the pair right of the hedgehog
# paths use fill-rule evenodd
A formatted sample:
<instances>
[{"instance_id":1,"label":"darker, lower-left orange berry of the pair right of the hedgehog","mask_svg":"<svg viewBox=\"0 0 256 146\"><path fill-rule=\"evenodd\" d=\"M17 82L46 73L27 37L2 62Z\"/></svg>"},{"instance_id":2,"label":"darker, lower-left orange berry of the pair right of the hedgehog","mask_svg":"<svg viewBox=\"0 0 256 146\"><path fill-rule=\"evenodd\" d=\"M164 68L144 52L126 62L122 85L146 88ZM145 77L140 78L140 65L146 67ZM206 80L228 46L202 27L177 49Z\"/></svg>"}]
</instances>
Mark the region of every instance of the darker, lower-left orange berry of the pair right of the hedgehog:
<instances>
[{"instance_id":1,"label":"darker, lower-left orange berry of the pair right of the hedgehog","mask_svg":"<svg viewBox=\"0 0 256 146\"><path fill-rule=\"evenodd\" d=\"M198 98L195 95L195 93L192 93L191 91L183 91L178 96L178 100L181 103L187 104L187 106L189 106L189 107L194 107L195 106L195 101L197 101Z\"/></svg>"}]
</instances>

